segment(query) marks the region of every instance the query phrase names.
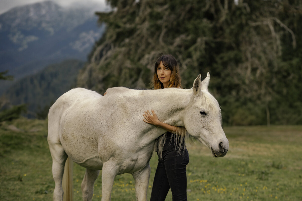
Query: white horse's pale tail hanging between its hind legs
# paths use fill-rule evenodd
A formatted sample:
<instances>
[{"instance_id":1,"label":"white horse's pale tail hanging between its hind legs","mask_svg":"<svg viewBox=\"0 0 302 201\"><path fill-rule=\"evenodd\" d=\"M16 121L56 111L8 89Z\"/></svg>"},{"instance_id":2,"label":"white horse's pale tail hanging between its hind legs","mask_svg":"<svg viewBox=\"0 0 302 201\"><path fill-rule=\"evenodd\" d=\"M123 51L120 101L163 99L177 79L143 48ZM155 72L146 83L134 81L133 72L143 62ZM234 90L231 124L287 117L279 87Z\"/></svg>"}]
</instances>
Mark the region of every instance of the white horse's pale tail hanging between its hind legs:
<instances>
[{"instance_id":1,"label":"white horse's pale tail hanging between its hind legs","mask_svg":"<svg viewBox=\"0 0 302 201\"><path fill-rule=\"evenodd\" d=\"M72 201L73 187L72 187L72 161L67 158L65 162L62 186L64 191L63 201Z\"/></svg>"}]
</instances>

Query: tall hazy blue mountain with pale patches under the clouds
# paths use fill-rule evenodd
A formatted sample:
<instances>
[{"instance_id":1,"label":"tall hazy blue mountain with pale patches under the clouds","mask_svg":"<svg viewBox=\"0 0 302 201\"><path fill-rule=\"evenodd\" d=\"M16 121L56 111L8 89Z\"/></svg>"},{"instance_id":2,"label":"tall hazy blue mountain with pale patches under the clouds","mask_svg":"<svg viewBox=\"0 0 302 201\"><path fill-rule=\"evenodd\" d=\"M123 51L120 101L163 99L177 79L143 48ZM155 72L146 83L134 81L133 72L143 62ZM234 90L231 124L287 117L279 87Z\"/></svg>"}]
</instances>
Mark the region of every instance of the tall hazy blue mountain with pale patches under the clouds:
<instances>
[{"instance_id":1,"label":"tall hazy blue mountain with pale patches under the clouds","mask_svg":"<svg viewBox=\"0 0 302 201\"><path fill-rule=\"evenodd\" d=\"M65 59L85 61L104 28L90 7L45 1L13 8L0 15L0 72L18 80ZM1 94L11 83L0 84Z\"/></svg>"}]
</instances>

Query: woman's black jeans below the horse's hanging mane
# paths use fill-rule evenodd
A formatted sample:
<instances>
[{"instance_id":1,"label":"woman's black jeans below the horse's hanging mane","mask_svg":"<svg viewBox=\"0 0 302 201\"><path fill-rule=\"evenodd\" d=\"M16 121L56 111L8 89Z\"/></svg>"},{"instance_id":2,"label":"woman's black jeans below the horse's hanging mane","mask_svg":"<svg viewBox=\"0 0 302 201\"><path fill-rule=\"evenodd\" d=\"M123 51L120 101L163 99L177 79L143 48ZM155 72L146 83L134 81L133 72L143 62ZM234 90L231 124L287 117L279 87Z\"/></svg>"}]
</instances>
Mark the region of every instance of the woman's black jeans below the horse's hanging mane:
<instances>
[{"instance_id":1,"label":"woman's black jeans below the horse's hanging mane","mask_svg":"<svg viewBox=\"0 0 302 201\"><path fill-rule=\"evenodd\" d=\"M174 148L162 151L162 160L158 159L150 201L165 200L171 188L173 201L187 200L187 174L189 153L185 148L176 155Z\"/></svg>"}]
</instances>

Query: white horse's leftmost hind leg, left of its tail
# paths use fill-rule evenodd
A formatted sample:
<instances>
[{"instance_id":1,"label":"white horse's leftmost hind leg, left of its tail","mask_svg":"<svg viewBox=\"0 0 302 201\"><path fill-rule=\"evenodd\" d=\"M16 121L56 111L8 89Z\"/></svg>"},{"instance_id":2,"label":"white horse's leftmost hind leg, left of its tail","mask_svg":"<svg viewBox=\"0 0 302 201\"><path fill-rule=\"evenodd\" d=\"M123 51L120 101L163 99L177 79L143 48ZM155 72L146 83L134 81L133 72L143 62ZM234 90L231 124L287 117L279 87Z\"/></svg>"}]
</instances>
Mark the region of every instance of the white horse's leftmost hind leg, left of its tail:
<instances>
[{"instance_id":1,"label":"white horse's leftmost hind leg, left of its tail","mask_svg":"<svg viewBox=\"0 0 302 201\"><path fill-rule=\"evenodd\" d=\"M49 148L51 156L53 158L53 180L55 181L55 189L53 190L53 200L62 201L62 178L67 154L65 153L61 144L50 143Z\"/></svg>"}]
</instances>

